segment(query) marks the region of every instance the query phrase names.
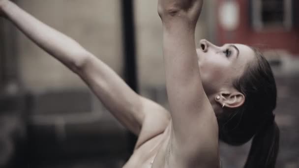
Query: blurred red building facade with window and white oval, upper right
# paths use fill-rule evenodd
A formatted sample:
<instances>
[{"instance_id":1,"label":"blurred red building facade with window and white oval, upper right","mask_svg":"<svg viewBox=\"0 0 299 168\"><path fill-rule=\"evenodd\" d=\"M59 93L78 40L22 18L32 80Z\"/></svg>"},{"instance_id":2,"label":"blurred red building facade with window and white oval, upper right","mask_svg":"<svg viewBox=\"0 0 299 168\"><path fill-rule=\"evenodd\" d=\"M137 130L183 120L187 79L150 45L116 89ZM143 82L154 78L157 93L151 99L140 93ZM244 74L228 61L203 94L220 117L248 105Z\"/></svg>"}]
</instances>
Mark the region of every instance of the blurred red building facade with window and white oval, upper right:
<instances>
[{"instance_id":1,"label":"blurred red building facade with window and white oval, upper right","mask_svg":"<svg viewBox=\"0 0 299 168\"><path fill-rule=\"evenodd\" d=\"M218 0L217 40L299 56L298 0Z\"/></svg>"}]
</instances>

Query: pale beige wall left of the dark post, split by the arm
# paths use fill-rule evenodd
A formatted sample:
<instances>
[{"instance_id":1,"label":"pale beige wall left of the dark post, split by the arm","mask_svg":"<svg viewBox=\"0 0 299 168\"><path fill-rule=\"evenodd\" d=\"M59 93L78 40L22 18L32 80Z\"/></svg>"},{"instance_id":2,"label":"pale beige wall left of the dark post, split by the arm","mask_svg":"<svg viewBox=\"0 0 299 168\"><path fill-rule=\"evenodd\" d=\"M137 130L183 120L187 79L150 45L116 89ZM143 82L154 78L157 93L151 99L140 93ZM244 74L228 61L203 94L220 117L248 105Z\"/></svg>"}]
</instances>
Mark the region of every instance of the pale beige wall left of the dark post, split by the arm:
<instances>
[{"instance_id":1,"label":"pale beige wall left of the dark post, split by the arm","mask_svg":"<svg viewBox=\"0 0 299 168\"><path fill-rule=\"evenodd\" d=\"M91 53L122 71L120 0L19 0L22 8L78 41ZM83 82L60 62L18 34L21 78L30 90L83 88Z\"/></svg>"}]
</instances>

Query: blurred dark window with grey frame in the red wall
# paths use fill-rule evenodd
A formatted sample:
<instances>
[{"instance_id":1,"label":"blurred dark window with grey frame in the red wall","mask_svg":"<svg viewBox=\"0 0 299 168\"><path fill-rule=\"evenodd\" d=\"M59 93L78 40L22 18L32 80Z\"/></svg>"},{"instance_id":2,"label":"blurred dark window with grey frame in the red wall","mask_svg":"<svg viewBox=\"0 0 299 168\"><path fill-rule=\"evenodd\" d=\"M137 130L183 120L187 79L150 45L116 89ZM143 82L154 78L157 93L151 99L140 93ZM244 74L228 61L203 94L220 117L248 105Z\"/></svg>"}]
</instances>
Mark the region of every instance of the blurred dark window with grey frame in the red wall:
<instances>
[{"instance_id":1,"label":"blurred dark window with grey frame in the red wall","mask_svg":"<svg viewBox=\"0 0 299 168\"><path fill-rule=\"evenodd\" d=\"M252 25L255 30L290 30L293 26L292 13L292 0L251 0Z\"/></svg>"}]
</instances>

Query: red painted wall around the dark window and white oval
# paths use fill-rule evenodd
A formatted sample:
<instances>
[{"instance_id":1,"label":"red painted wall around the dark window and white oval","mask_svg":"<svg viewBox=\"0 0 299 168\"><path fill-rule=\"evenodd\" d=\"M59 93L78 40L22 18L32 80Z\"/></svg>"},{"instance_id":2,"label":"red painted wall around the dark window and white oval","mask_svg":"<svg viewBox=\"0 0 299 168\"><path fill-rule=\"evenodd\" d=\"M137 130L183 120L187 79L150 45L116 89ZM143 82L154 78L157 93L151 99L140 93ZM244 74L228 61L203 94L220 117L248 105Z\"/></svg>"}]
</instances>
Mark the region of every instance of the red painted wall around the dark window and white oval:
<instances>
[{"instance_id":1,"label":"red painted wall around the dark window and white oval","mask_svg":"<svg viewBox=\"0 0 299 168\"><path fill-rule=\"evenodd\" d=\"M223 1L224 0L218 0L217 12L219 11L219 6ZM250 16L248 11L250 0L236 1L240 6L239 27L236 30L228 32L221 28L217 13L217 40L220 44L241 43L255 46L262 50L283 49L290 52L292 55L299 56L298 27L293 28L291 31L286 31L284 29L270 29L256 32L250 25Z\"/></svg>"}]
</instances>

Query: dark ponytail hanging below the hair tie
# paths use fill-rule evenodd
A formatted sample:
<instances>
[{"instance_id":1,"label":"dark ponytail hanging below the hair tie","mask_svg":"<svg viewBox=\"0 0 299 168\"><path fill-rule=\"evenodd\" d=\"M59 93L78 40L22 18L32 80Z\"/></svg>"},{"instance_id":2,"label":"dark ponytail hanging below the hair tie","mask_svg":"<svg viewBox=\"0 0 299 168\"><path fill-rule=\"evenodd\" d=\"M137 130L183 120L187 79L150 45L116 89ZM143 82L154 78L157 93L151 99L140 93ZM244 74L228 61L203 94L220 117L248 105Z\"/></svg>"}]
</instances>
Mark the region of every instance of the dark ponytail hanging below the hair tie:
<instances>
[{"instance_id":1,"label":"dark ponytail hanging below the hair tie","mask_svg":"<svg viewBox=\"0 0 299 168\"><path fill-rule=\"evenodd\" d=\"M244 168L274 168L278 148L279 128L272 120L254 136Z\"/></svg>"}]
</instances>

